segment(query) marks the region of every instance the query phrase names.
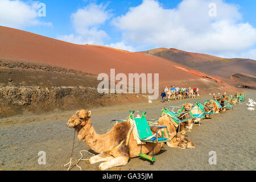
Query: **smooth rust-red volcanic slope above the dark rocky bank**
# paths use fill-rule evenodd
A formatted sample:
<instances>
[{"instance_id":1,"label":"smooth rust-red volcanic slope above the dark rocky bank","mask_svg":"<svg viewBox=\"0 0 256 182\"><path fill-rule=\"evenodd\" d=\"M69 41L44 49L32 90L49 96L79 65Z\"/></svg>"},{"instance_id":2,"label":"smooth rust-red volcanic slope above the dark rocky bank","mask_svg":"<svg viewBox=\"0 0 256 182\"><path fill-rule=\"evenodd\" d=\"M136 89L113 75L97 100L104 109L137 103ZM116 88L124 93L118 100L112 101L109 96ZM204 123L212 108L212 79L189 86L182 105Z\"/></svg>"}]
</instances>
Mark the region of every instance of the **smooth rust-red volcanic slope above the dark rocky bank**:
<instances>
[{"instance_id":1,"label":"smooth rust-red volcanic slope above the dark rocky bank","mask_svg":"<svg viewBox=\"0 0 256 182\"><path fill-rule=\"evenodd\" d=\"M52 64L86 73L159 73L159 85L198 86L201 91L234 88L219 78L142 52L77 45L0 26L0 60ZM196 56L196 55L195 55ZM216 58L217 59L217 58Z\"/></svg>"}]
</instances>

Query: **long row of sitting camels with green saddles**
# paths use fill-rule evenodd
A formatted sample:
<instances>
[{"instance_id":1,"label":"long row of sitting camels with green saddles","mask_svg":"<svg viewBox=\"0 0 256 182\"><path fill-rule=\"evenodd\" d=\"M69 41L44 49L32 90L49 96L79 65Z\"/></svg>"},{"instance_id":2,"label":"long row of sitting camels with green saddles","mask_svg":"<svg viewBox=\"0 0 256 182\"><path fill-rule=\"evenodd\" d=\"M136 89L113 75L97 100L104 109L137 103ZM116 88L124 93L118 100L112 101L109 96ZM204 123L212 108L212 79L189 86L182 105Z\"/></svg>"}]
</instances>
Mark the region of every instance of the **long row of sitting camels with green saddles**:
<instances>
[{"instance_id":1,"label":"long row of sitting camels with green saddles","mask_svg":"<svg viewBox=\"0 0 256 182\"><path fill-rule=\"evenodd\" d=\"M237 96L235 94L235 96ZM234 98L234 97L233 97ZM214 97L213 100L209 100L204 104L204 110L206 113L210 109L214 110L214 113L220 113L221 108L214 102L214 100L225 100L232 102L236 105L236 101L226 96L225 94L221 98ZM193 111L192 108L196 107L193 104L183 104L183 111ZM187 112L188 113L188 112ZM88 147L98 155L89 159L90 164L102 162L99 166L100 170L105 170L115 166L124 166L129 162L131 158L138 157L140 151L144 154L158 154L164 143L144 143L138 144L134 135L130 134L131 125L129 121L116 123L112 129L106 134L97 134L92 126L91 111L80 110L76 111L76 114L72 115L67 123L67 127L74 128L77 132L77 138L84 140ZM180 114L179 119L186 117L186 114ZM205 118L209 118L209 114L205 114ZM166 142L169 147L178 148L194 148L195 144L191 140L184 137L187 131L191 131L193 125L200 122L200 118L191 118L187 121L176 125L170 115L162 114L158 119L156 125L167 126L164 135L168 135L169 141ZM150 128L151 129L151 128ZM154 129L151 129L152 133L156 133ZM152 147L154 145L154 147ZM153 148L153 149L152 149Z\"/></svg>"}]
</instances>

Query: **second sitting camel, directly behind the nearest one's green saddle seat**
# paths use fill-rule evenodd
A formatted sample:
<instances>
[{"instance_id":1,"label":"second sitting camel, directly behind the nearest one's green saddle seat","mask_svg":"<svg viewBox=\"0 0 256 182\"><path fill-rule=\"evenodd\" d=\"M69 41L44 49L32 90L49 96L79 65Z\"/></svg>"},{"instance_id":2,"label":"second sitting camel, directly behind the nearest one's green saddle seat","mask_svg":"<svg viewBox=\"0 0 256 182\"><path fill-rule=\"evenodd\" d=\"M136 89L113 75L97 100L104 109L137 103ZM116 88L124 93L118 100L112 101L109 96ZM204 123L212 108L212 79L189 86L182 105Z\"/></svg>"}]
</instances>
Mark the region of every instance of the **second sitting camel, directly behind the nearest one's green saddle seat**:
<instances>
[{"instance_id":1,"label":"second sitting camel, directly behind the nearest one's green saddle seat","mask_svg":"<svg viewBox=\"0 0 256 182\"><path fill-rule=\"evenodd\" d=\"M168 147L174 148L195 148L195 144L191 140L186 139L181 133L177 133L177 126L174 125L172 118L168 117L166 113L159 118L156 125L167 126L168 135L170 136L170 141L166 142ZM164 135L166 135L166 130L164 130Z\"/></svg>"}]
</instances>

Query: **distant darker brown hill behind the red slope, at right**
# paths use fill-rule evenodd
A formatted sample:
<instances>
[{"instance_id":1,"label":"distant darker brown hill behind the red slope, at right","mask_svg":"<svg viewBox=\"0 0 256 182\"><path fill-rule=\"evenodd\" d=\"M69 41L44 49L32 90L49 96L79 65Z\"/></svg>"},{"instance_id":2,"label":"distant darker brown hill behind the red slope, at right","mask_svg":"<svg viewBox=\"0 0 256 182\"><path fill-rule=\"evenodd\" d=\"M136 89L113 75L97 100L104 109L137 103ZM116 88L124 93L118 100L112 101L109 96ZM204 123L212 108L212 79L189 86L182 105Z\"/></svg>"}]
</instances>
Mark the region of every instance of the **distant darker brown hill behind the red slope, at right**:
<instances>
[{"instance_id":1,"label":"distant darker brown hill behind the red slope, at right","mask_svg":"<svg viewBox=\"0 0 256 182\"><path fill-rule=\"evenodd\" d=\"M144 53L175 61L209 75L231 78L234 73L247 73L255 76L256 64L254 60L250 59L225 59L203 53L185 52L174 48L158 48Z\"/></svg>"}]
</instances>

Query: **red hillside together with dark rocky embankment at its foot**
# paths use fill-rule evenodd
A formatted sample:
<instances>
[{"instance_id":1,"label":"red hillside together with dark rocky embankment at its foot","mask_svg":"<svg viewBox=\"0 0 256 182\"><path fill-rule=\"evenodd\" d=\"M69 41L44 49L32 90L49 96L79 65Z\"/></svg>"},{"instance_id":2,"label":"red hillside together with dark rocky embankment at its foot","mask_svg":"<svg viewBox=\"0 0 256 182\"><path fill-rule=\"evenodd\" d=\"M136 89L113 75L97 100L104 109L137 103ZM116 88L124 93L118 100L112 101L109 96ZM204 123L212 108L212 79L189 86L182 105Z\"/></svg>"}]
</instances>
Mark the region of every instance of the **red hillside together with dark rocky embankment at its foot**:
<instances>
[{"instance_id":1,"label":"red hillside together with dark rocky embankment at its foot","mask_svg":"<svg viewBox=\"0 0 256 182\"><path fill-rule=\"evenodd\" d=\"M0 118L148 98L145 94L99 94L97 76L110 76L112 68L115 75L158 73L159 95L171 85L196 86L200 94L237 90L230 79L143 52L77 45L2 26L0 41Z\"/></svg>"}]
</instances>

